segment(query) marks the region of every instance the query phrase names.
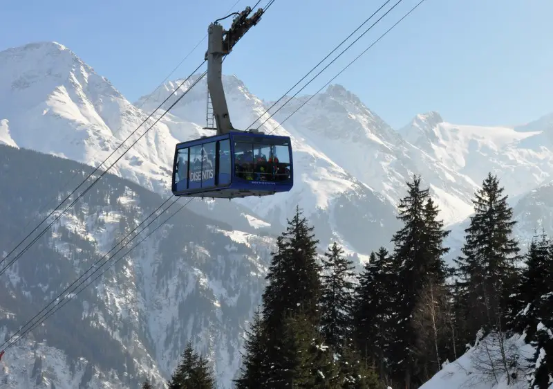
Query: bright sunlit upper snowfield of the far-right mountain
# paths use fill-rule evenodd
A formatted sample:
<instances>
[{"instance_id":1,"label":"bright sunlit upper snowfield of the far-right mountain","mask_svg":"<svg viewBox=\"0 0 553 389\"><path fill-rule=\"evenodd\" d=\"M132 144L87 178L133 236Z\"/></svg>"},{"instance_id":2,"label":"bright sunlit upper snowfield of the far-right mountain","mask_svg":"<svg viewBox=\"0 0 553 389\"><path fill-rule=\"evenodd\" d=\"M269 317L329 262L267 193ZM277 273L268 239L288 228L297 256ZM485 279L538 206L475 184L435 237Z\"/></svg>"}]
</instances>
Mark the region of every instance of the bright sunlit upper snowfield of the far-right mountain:
<instances>
[{"instance_id":1,"label":"bright sunlit upper snowfield of the far-right mountain","mask_svg":"<svg viewBox=\"0 0 553 389\"><path fill-rule=\"evenodd\" d=\"M431 112L415 117L400 133L478 185L488 172L498 174L507 193L518 196L553 178L553 142L535 128L453 125Z\"/></svg>"}]
</instances>

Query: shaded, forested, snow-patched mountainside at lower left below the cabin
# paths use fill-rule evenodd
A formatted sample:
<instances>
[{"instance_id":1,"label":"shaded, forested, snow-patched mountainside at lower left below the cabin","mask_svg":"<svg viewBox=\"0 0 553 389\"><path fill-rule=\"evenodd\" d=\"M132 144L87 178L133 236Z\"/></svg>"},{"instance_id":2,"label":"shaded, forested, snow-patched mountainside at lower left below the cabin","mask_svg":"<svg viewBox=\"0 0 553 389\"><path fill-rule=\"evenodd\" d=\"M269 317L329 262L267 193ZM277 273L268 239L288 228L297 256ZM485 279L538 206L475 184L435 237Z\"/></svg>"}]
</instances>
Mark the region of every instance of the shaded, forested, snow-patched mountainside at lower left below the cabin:
<instances>
[{"instance_id":1,"label":"shaded, forested, snow-patched mountainside at lower left below the cabin","mask_svg":"<svg viewBox=\"0 0 553 389\"><path fill-rule=\"evenodd\" d=\"M92 169L0 145L2 257L48 215L51 197L68 194L66 177L82 170ZM115 244L160 203L158 194L107 174L0 275L3 343L89 266L106 271L6 350L2 388L138 388L145 377L162 388L189 339L212 361L219 387L232 387L274 238L196 215L200 201L193 201L125 255L182 201L118 253Z\"/></svg>"}]
</instances>

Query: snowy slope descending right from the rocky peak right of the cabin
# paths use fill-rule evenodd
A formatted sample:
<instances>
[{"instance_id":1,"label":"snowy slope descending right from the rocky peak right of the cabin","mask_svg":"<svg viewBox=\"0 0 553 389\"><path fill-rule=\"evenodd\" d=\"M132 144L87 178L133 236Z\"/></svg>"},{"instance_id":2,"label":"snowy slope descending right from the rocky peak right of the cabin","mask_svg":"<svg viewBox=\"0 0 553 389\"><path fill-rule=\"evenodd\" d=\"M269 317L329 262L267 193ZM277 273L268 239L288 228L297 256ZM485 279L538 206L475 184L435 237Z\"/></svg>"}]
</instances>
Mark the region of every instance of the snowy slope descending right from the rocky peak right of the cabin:
<instances>
[{"instance_id":1,"label":"snowy slope descending right from the rocky peak right of the cabin","mask_svg":"<svg viewBox=\"0 0 553 389\"><path fill-rule=\"evenodd\" d=\"M291 100L274 118L285 120L308 98ZM469 213L467 201L474 182L406 142L340 85L330 85L312 98L284 126L394 204L404 196L406 181L411 181L413 174L421 174L424 185L431 186L446 224L464 219Z\"/></svg>"}]
</instances>

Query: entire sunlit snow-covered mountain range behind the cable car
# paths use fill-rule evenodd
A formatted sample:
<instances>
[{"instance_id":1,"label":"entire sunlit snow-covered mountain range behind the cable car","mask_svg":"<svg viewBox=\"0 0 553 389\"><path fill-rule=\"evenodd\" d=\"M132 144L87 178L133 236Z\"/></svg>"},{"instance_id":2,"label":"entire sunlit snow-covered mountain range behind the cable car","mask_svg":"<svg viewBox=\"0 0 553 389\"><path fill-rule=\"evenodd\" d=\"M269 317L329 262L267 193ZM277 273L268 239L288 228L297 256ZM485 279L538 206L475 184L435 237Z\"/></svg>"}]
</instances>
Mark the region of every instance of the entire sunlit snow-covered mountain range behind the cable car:
<instances>
[{"instance_id":1,"label":"entire sunlit snow-covered mountain range behind the cable car","mask_svg":"<svg viewBox=\"0 0 553 389\"><path fill-rule=\"evenodd\" d=\"M133 105L106 78L55 42L1 52L0 70L0 141L91 161L94 166L182 82L166 82ZM194 81L193 77L185 83L164 107ZM235 127L257 126L265 120L267 115L258 119L272 102L253 96L234 75L224 76L223 83ZM202 128L206 98L205 80L201 80L111 172L168 194L174 145L211 134ZM340 231L334 220L336 203L355 197L364 210L362 219L371 219L389 232L386 217L390 219L390 212L404 195L405 181L415 173L422 174L431 187L448 225L471 213L471 196L488 171L500 174L512 196L552 178L552 116L513 129L453 125L430 112L416 116L396 132L353 93L331 85L274 129L308 98L311 96L293 98L262 127L265 132L292 137L297 174L294 189L273 197L233 201L243 206L240 214L251 212L282 226L299 204L308 215L323 217L335 235L343 236L348 234ZM113 163L161 112L157 111L106 165ZM364 203L370 203L372 209L363 207ZM223 207L223 201L216 201L216 207ZM224 217L230 209L235 208L227 206L225 212L216 213ZM246 209L249 211L244 212ZM351 248L370 249L358 244Z\"/></svg>"}]
</instances>

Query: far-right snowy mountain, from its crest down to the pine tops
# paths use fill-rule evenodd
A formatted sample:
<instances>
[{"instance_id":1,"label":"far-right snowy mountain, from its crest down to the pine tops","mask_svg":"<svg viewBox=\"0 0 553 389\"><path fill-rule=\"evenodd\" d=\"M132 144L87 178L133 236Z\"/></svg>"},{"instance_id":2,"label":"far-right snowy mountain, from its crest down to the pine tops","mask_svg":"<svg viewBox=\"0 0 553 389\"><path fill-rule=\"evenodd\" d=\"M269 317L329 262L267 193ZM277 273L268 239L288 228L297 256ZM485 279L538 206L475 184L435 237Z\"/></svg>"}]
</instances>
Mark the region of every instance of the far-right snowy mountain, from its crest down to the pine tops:
<instances>
[{"instance_id":1,"label":"far-right snowy mountain, from its crest down to the pine tops","mask_svg":"<svg viewBox=\"0 0 553 389\"><path fill-rule=\"evenodd\" d=\"M418 115L400 133L451 170L480 184L497 174L514 207L514 233L523 250L543 228L553 234L553 114L519 127L453 125L437 112ZM473 194L470 194L472 197ZM470 203L469 203L470 204ZM467 204L467 215L472 206ZM447 258L460 255L468 219L451 224Z\"/></svg>"}]
</instances>

